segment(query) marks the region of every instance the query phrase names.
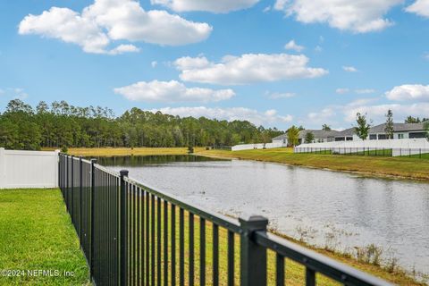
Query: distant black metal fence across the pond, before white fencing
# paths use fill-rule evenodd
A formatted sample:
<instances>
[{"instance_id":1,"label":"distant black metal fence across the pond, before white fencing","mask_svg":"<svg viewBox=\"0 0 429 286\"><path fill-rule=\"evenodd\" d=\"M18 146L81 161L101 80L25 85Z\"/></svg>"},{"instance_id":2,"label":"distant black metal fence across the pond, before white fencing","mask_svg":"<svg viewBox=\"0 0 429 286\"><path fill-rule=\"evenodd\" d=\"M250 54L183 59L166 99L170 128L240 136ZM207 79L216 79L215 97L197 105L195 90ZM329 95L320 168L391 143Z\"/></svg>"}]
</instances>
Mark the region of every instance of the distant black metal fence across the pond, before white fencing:
<instances>
[{"instance_id":1,"label":"distant black metal fence across the pond, before white fencing","mask_svg":"<svg viewBox=\"0 0 429 286\"><path fill-rule=\"evenodd\" d=\"M427 148L295 147L294 152L320 155L394 156L429 159L429 149Z\"/></svg>"}]
</instances>

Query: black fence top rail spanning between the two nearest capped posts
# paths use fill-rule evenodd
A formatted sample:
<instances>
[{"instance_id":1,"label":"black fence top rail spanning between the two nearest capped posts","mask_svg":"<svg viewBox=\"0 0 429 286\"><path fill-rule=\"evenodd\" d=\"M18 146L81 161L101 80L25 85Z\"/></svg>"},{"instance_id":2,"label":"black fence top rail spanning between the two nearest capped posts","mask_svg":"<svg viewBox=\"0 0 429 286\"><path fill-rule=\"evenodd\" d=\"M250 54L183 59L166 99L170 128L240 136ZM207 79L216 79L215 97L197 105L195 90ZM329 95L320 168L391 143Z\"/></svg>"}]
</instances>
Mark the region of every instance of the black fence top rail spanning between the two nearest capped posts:
<instances>
[{"instance_id":1,"label":"black fence top rail spanning between the two nearest capped posts","mask_svg":"<svg viewBox=\"0 0 429 286\"><path fill-rule=\"evenodd\" d=\"M156 190L153 187L149 187L147 185L140 183L139 181L135 181L128 177L125 177L124 180L141 189L147 190L147 192L156 195L156 197L158 198L162 198L165 201L172 203L175 206L180 206L181 208L189 211L190 213L197 214L198 216L206 219L207 221L215 223L229 231L241 233L240 223L236 219L233 219L223 214L216 214L207 210L202 210L199 206L194 206L188 202L185 202L181 198L176 198L171 194Z\"/></svg>"}]
</instances>

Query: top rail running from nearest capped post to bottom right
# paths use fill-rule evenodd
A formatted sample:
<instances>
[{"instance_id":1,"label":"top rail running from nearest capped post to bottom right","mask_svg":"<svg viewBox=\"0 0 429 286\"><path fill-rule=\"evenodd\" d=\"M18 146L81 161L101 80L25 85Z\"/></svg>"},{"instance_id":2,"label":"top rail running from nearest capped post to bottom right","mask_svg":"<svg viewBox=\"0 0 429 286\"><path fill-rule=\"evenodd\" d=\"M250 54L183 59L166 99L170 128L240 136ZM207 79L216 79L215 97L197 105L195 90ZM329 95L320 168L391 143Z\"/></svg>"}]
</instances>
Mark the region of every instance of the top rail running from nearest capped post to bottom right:
<instances>
[{"instance_id":1,"label":"top rail running from nearest capped post to bottom right","mask_svg":"<svg viewBox=\"0 0 429 286\"><path fill-rule=\"evenodd\" d=\"M363 273L355 268L343 265L330 257L324 257L313 250L303 248L296 243L265 232L257 231L255 235L257 244L270 248L283 257L290 258L317 273L322 273L345 285L379 285L389 286L391 283Z\"/></svg>"}]
</instances>

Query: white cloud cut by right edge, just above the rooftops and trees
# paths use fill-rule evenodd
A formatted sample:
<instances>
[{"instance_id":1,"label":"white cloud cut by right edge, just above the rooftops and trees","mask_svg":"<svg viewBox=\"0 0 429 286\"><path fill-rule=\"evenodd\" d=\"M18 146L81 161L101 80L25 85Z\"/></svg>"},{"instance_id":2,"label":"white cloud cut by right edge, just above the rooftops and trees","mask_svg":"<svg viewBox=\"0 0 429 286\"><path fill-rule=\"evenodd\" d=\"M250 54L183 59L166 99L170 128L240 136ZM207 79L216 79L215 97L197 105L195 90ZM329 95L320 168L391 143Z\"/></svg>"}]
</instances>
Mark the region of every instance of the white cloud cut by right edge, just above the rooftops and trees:
<instances>
[{"instance_id":1,"label":"white cloud cut by right edge, just above the rooftops and trees","mask_svg":"<svg viewBox=\"0 0 429 286\"><path fill-rule=\"evenodd\" d=\"M391 100L398 101L429 101L429 85L424 86L421 84L404 84L387 91L385 96Z\"/></svg>"}]
</instances>

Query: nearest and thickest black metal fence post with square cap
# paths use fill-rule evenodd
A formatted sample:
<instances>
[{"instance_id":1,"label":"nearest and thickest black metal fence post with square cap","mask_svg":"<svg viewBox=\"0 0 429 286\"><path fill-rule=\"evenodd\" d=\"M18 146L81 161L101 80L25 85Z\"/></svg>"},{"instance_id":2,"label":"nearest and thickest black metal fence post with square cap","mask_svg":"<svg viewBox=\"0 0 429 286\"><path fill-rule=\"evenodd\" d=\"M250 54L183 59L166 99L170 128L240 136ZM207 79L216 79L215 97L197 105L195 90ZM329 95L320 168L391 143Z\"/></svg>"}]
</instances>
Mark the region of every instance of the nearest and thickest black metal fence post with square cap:
<instances>
[{"instance_id":1,"label":"nearest and thickest black metal fence post with square cap","mask_svg":"<svg viewBox=\"0 0 429 286\"><path fill-rule=\"evenodd\" d=\"M255 231L266 231L268 220L259 215L240 218L241 286L266 285L266 248L255 243Z\"/></svg>"}]
</instances>

